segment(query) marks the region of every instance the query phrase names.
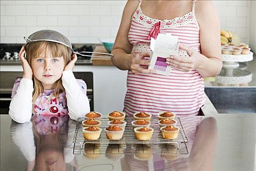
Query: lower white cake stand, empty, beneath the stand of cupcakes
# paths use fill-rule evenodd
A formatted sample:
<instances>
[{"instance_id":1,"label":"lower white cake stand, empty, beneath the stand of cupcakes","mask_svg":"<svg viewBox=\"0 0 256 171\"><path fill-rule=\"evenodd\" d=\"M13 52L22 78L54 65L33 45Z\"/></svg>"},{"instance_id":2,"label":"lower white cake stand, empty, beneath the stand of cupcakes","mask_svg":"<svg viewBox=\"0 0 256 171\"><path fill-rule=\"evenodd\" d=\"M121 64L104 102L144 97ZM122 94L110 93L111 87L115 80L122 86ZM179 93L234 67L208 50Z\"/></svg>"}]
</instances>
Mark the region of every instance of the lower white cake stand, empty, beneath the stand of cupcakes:
<instances>
[{"instance_id":1,"label":"lower white cake stand, empty, beneath the stand of cupcakes","mask_svg":"<svg viewBox=\"0 0 256 171\"><path fill-rule=\"evenodd\" d=\"M252 76L252 72L247 70L241 70L239 68L222 68L215 79L216 83L238 85L251 82Z\"/></svg>"}]
</instances>

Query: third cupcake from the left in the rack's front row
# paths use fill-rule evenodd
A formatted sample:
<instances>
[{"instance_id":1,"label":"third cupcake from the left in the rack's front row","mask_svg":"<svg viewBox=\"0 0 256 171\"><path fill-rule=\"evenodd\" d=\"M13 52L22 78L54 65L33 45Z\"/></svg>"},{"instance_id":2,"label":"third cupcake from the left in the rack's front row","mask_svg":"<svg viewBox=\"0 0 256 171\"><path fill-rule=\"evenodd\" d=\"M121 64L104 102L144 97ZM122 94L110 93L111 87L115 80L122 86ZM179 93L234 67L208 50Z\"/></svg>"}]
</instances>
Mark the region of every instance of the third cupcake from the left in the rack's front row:
<instances>
[{"instance_id":1,"label":"third cupcake from the left in the rack's front row","mask_svg":"<svg viewBox=\"0 0 256 171\"><path fill-rule=\"evenodd\" d=\"M153 135L153 128L147 128L147 127L137 127L134 128L136 138L141 141L147 141L152 138Z\"/></svg>"}]
</instances>

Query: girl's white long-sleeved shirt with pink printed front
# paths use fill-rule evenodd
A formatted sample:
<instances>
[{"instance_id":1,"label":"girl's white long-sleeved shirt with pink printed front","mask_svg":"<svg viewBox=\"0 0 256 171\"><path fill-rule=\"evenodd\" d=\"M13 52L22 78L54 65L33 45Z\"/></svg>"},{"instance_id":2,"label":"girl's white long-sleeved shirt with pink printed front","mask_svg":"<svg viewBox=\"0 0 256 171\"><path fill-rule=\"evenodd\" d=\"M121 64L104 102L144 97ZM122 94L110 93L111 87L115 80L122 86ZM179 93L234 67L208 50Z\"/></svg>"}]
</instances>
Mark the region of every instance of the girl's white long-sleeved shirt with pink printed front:
<instances>
[{"instance_id":1,"label":"girl's white long-sleeved shirt with pink printed front","mask_svg":"<svg viewBox=\"0 0 256 171\"><path fill-rule=\"evenodd\" d=\"M59 100L52 96L54 89L44 90L33 105L34 114L68 114L73 120L84 117L85 113L90 111L85 82L76 79L71 70L63 71L61 79L65 92L59 95ZM9 107L9 115L14 121L18 123L30 121L32 116L32 93L32 80L22 78L14 84Z\"/></svg>"}]
</instances>

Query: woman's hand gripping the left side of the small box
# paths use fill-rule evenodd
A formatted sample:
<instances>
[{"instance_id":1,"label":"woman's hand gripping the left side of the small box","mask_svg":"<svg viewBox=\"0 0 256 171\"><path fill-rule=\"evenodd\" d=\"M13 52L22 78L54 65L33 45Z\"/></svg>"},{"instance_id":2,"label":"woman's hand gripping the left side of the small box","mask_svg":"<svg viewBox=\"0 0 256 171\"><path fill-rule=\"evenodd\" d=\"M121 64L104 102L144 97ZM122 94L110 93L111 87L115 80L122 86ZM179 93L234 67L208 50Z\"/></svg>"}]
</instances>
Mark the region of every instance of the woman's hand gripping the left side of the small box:
<instances>
[{"instance_id":1,"label":"woman's hand gripping the left side of the small box","mask_svg":"<svg viewBox=\"0 0 256 171\"><path fill-rule=\"evenodd\" d=\"M131 60L129 62L129 68L130 70L135 74L139 73L146 73L146 74L153 74L156 73L156 70L154 69L145 69L141 67L140 65L150 65L150 62L148 60L144 60L144 58L147 58L150 56L149 52L141 52L132 54Z\"/></svg>"}]
</instances>

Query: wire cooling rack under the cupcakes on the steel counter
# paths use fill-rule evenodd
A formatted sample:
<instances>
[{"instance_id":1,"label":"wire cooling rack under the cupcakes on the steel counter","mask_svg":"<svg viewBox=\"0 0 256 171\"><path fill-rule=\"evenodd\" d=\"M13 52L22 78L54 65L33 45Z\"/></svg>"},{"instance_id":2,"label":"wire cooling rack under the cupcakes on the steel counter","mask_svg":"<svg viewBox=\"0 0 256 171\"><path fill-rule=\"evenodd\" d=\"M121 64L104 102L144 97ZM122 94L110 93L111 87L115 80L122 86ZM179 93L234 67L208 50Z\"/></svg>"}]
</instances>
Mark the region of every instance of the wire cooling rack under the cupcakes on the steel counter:
<instances>
[{"instance_id":1,"label":"wire cooling rack under the cupcakes on the steel counter","mask_svg":"<svg viewBox=\"0 0 256 171\"><path fill-rule=\"evenodd\" d=\"M160 131L160 127L158 125L158 118L157 117L152 117L150 122L150 128L154 128L154 132L152 135L152 138L148 141L141 141L138 140L136 138L133 126L131 124L131 122L134 120L134 118L125 118L124 120L127 122L126 127L124 129L124 133L123 136L120 140L109 140L106 137L106 133L104 131L104 128L107 128L107 122L109 121L108 118L101 118L100 122L100 128L102 128L102 131L100 133L100 137L98 140L86 140L84 139L83 136L83 132L82 132L82 121L84 120L84 118L79 118L78 122L77 122L77 126L76 126L76 131L74 134L74 139L73 139L73 143L74 143L74 150L73 153L74 154L79 154L81 153L81 150L88 150L88 149L98 149L99 148L99 152L100 153L105 153L107 148L113 149L113 147L117 147L118 149L116 150L120 150L122 151L121 147L127 146L127 147L131 147L131 148L125 148L126 149L126 153L134 153L135 152L135 148L142 148L142 151L144 151L144 148L147 147L151 147L153 148L154 151L164 151L162 149L167 149L168 152L168 148L170 149L173 148L173 145L177 145L177 149L180 149L182 147L182 149L184 150L184 154L187 153L187 146L186 143L188 143L188 138L186 136L186 133L183 129L183 126L181 124L181 121L179 118L175 118L175 120L177 120L177 127L179 127L179 133L178 133L178 137L175 140L166 140L163 139L161 131ZM171 146L170 146L171 145ZM130 150L129 150L130 149ZM134 150L133 150L134 149ZM128 150L128 151L127 151ZM181 150L182 151L182 150ZM162 152L161 152L162 153Z\"/></svg>"}]
</instances>

